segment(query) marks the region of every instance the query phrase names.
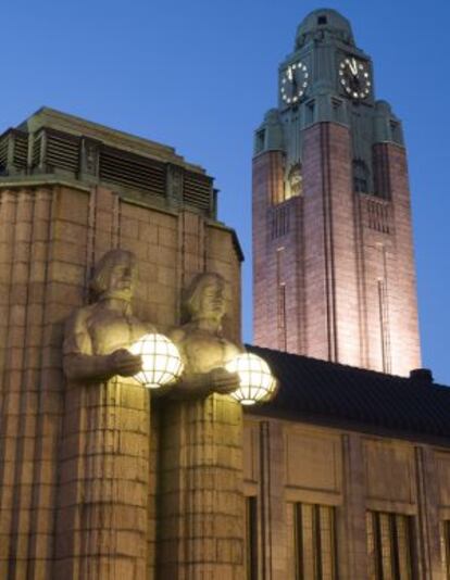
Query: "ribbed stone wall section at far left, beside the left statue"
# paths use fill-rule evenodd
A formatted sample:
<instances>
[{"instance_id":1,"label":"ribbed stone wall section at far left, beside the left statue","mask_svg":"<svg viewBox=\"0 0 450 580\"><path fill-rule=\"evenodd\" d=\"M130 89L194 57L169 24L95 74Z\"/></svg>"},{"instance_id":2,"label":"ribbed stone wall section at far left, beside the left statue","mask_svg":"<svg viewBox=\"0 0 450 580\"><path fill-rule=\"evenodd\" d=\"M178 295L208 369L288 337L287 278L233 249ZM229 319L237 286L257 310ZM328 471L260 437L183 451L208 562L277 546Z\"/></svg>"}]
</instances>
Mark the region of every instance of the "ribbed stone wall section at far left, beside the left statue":
<instances>
[{"instance_id":1,"label":"ribbed stone wall section at far left, beside the left statue","mask_svg":"<svg viewBox=\"0 0 450 580\"><path fill-rule=\"evenodd\" d=\"M0 578L48 579L60 439L61 318L54 193L5 190L0 212ZM57 346L58 345L58 346Z\"/></svg>"}]
</instances>

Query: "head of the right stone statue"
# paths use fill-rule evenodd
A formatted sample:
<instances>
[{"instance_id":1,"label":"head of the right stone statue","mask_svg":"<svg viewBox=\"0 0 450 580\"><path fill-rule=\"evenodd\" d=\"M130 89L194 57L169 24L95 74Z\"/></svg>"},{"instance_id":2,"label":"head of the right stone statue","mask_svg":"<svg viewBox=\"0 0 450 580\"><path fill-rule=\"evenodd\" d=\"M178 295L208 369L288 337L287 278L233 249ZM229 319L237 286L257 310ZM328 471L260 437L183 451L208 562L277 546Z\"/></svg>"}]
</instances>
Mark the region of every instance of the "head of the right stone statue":
<instances>
[{"instance_id":1,"label":"head of the right stone statue","mask_svg":"<svg viewBox=\"0 0 450 580\"><path fill-rule=\"evenodd\" d=\"M190 320L221 321L226 311L224 278L215 273L198 274L186 291L184 306Z\"/></svg>"}]
</instances>

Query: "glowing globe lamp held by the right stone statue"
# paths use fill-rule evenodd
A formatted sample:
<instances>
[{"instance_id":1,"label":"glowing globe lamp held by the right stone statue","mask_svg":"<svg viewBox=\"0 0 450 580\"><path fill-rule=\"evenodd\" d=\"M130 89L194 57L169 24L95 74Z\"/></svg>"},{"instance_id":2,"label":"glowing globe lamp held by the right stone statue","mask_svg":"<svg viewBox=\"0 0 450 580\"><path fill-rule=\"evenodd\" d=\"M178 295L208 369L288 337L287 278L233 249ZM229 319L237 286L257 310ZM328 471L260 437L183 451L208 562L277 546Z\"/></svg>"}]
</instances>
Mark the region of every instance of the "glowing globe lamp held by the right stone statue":
<instances>
[{"instance_id":1,"label":"glowing globe lamp held by the right stone statue","mask_svg":"<svg viewBox=\"0 0 450 580\"><path fill-rule=\"evenodd\" d=\"M260 356L251 353L238 354L225 368L228 373L239 375L239 388L230 395L241 405L254 405L273 396L276 380L267 363Z\"/></svg>"}]
</instances>

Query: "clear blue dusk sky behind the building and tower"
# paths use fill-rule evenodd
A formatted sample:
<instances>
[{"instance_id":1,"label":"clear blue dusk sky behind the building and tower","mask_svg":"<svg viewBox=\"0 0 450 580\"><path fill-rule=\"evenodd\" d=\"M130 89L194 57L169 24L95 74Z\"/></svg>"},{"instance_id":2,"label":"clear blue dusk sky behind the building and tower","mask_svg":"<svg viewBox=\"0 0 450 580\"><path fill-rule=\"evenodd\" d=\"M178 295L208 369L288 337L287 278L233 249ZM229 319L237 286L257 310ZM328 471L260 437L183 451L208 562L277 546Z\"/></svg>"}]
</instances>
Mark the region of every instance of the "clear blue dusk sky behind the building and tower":
<instances>
[{"instance_id":1,"label":"clear blue dusk sky behind the building and tower","mask_svg":"<svg viewBox=\"0 0 450 580\"><path fill-rule=\"evenodd\" d=\"M423 364L450 384L450 2L329 0L372 55L377 98L404 124ZM252 134L310 0L41 0L2 12L0 130L42 104L176 147L215 176L247 260Z\"/></svg>"}]
</instances>

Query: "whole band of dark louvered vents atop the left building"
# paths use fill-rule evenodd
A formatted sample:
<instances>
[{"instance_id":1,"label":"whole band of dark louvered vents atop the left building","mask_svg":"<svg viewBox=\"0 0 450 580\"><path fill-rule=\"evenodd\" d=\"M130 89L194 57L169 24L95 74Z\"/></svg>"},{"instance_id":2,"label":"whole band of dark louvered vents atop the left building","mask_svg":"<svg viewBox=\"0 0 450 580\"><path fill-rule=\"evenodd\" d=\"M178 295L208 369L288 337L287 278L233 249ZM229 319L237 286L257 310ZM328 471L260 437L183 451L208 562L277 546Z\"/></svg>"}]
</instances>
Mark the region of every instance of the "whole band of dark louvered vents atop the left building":
<instances>
[{"instance_id":1,"label":"whole band of dark louvered vents atop the left building","mask_svg":"<svg viewBox=\"0 0 450 580\"><path fill-rule=\"evenodd\" d=\"M32 139L33 144L29 152L30 166L28 139ZM89 141L89 151L82 147L83 140ZM115 141L112 144L115 144ZM13 160L9 157L10 147L13 147ZM89 171L88 163L91 164ZM36 174L65 171L77 179L85 179L89 174L89 182L97 180L108 182L112 188L128 188L139 200L142 200L145 193L150 193L167 199L171 206L176 200L177 205L182 202L183 205L197 207L214 217L215 191L212 178L186 171L177 163L174 165L177 167L174 173L172 165L174 164L171 157L167 161L151 159L53 127L40 126L29 135L18 129L10 129L0 136L0 175L10 171L21 173L29 169ZM171 191L167 191L167 175L171 175ZM177 175L176 179L174 175Z\"/></svg>"}]
</instances>

